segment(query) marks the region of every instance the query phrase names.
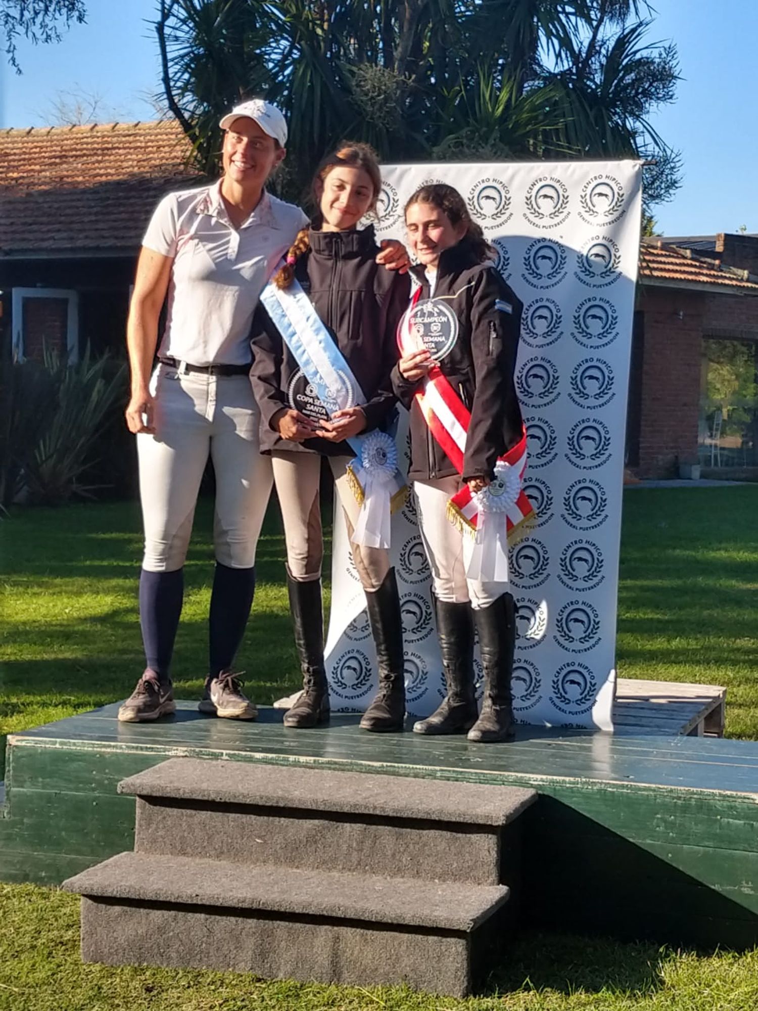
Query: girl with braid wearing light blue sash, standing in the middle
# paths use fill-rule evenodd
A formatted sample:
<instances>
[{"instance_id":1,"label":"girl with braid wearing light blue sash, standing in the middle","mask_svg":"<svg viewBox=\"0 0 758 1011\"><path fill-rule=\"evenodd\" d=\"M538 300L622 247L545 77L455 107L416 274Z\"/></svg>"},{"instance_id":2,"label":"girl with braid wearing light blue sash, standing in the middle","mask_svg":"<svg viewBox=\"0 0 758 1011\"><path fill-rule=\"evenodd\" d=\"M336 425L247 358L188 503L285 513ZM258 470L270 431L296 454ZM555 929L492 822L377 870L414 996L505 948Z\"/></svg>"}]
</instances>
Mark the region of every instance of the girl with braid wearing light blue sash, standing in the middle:
<instances>
[{"instance_id":1,"label":"girl with braid wearing light blue sash, standing in the middle","mask_svg":"<svg viewBox=\"0 0 758 1011\"><path fill-rule=\"evenodd\" d=\"M278 306L276 298L273 302L262 299L254 325L251 376L261 408L261 450L271 456L282 510L287 586L303 677L303 692L284 717L287 727L313 727L329 718L318 500L324 456L335 476L353 559L366 592L379 667L379 692L361 727L392 731L401 730L403 725L405 690L397 582L385 547L356 543L361 507L349 470L356 456L349 440L386 429L394 415L390 373L397 361L397 325L407 307L410 287L407 275L377 265L373 226L357 227L361 218L374 210L380 188L379 166L366 145L345 143L325 158L313 181L318 212L310 227L298 234L273 280L283 293L297 288L302 297L305 292L309 299L306 310L312 306L317 317L314 332L321 333L325 342L320 354L336 361L339 356L342 371L336 368L333 374L351 374L350 381L355 380L364 402L335 409L339 401L323 401L283 338L281 321L272 318ZM292 339L290 343L295 347ZM325 399L329 398L327 391Z\"/></svg>"}]
</instances>

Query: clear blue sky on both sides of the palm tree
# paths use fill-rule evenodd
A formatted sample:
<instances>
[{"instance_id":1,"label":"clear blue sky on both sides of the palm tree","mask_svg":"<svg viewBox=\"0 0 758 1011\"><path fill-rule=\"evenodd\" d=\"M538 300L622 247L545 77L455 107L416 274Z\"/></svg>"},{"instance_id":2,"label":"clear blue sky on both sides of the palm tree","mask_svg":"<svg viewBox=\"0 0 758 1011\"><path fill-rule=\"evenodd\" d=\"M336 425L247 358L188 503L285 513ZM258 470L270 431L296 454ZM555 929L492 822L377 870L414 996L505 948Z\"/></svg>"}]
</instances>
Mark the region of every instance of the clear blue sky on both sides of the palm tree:
<instances>
[{"instance_id":1,"label":"clear blue sky on both sides of the palm tree","mask_svg":"<svg viewBox=\"0 0 758 1011\"><path fill-rule=\"evenodd\" d=\"M657 209L666 235L758 232L758 39L756 0L655 0L650 41L673 39L681 75L676 102L653 124L684 158L684 184ZM101 96L107 118L150 119L141 97L160 88L156 0L88 0L88 24L59 45L22 43L23 75L0 63L0 125L41 125L60 91Z\"/></svg>"}]
</instances>

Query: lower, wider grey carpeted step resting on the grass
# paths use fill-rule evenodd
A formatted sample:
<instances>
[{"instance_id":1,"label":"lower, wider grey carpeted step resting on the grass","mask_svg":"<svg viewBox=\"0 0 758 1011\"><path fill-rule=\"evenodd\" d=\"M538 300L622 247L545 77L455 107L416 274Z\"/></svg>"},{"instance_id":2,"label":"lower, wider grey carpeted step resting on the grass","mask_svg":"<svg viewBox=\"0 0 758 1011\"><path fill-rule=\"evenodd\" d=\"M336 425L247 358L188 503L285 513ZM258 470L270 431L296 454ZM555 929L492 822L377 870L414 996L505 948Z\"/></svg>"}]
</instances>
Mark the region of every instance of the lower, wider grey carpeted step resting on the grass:
<instances>
[{"instance_id":1,"label":"lower, wider grey carpeted step resting on the grass","mask_svg":"<svg viewBox=\"0 0 758 1011\"><path fill-rule=\"evenodd\" d=\"M253 867L121 853L64 883L82 957L249 971L463 997L491 969L503 886Z\"/></svg>"}]
</instances>

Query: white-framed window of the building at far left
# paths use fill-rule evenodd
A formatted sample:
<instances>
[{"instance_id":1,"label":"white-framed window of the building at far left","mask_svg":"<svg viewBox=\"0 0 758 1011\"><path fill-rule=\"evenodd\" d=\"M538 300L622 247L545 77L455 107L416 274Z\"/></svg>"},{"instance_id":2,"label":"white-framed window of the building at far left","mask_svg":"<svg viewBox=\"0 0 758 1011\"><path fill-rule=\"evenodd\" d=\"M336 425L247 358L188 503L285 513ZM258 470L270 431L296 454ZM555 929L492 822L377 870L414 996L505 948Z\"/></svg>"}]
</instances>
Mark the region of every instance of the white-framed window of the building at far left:
<instances>
[{"instance_id":1,"label":"white-framed window of the building at far left","mask_svg":"<svg viewBox=\"0 0 758 1011\"><path fill-rule=\"evenodd\" d=\"M65 288L13 288L11 296L13 354L40 361L49 348L79 357L79 295Z\"/></svg>"}]
</instances>

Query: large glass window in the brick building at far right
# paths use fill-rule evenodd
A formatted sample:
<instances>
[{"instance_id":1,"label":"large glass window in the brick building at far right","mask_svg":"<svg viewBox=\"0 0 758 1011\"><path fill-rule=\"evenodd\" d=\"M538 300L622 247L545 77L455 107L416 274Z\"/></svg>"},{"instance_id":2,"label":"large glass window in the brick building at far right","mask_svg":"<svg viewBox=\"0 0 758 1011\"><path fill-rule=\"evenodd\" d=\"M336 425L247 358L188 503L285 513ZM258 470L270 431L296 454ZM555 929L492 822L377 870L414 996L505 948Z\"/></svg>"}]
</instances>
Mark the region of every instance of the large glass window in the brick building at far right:
<instances>
[{"instance_id":1,"label":"large glass window in the brick building at far right","mask_svg":"<svg viewBox=\"0 0 758 1011\"><path fill-rule=\"evenodd\" d=\"M704 467L758 466L758 342L702 342L698 452Z\"/></svg>"}]
</instances>

